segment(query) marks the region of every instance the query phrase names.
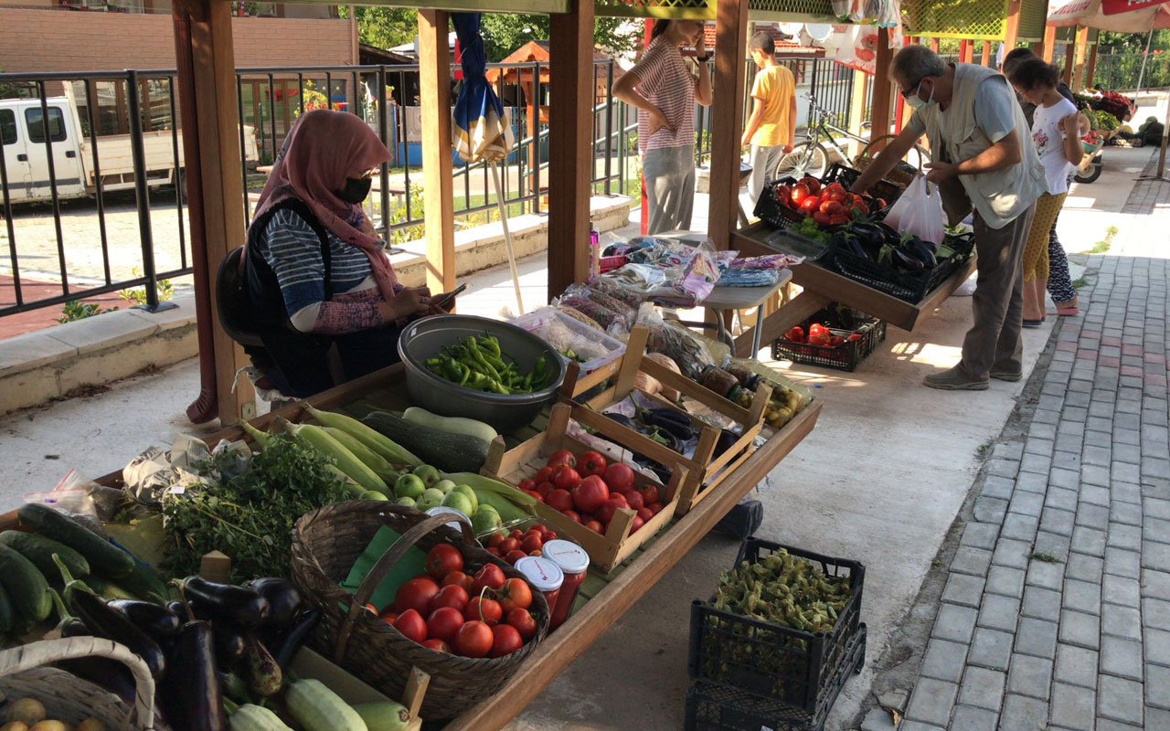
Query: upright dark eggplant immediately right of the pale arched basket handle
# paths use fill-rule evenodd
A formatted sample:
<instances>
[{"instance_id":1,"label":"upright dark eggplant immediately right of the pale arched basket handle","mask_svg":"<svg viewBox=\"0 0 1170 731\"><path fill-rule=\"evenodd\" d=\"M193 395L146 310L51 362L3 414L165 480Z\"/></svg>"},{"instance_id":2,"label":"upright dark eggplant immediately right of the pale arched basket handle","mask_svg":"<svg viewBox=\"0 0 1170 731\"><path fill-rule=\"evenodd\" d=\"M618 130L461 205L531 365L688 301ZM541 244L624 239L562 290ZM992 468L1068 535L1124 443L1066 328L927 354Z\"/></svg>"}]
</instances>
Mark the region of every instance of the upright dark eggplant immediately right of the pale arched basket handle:
<instances>
[{"instance_id":1,"label":"upright dark eggplant immediately right of the pale arched basket handle","mask_svg":"<svg viewBox=\"0 0 1170 731\"><path fill-rule=\"evenodd\" d=\"M179 630L173 667L158 688L158 698L174 731L227 731L223 695L215 675L212 626L187 622Z\"/></svg>"}]
</instances>

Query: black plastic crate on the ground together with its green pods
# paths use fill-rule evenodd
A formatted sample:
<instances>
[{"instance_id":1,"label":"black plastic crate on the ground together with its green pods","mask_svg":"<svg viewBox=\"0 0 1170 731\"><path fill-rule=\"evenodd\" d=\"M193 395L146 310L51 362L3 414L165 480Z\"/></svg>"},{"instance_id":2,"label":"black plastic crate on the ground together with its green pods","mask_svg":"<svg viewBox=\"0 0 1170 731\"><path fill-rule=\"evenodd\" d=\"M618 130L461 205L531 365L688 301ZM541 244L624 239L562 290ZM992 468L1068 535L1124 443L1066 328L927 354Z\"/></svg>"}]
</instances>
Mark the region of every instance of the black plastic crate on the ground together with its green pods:
<instances>
[{"instance_id":1,"label":"black plastic crate on the ground together with its green pods","mask_svg":"<svg viewBox=\"0 0 1170 731\"><path fill-rule=\"evenodd\" d=\"M865 662L863 580L858 561L746 539L715 596L691 602L688 675L798 711L792 727L823 723L842 676Z\"/></svg>"}]
</instances>

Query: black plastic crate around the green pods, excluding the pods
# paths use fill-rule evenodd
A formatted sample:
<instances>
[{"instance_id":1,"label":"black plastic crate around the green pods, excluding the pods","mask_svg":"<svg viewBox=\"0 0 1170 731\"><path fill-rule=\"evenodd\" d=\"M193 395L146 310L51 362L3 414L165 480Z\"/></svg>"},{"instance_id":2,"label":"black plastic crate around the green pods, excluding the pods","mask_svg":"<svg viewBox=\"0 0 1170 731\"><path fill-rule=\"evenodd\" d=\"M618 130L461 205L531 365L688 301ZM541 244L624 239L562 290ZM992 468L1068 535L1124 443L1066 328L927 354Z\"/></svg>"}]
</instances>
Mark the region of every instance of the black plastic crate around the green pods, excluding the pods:
<instances>
[{"instance_id":1,"label":"black plastic crate around the green pods, excluding the pods","mask_svg":"<svg viewBox=\"0 0 1170 731\"><path fill-rule=\"evenodd\" d=\"M821 570L827 577L848 577L849 599L833 629L810 633L724 612L709 602L690 605L690 649L687 673L702 681L779 701L814 713L838 671L847 664L849 642L861 625L865 567L858 561L748 538L735 566L757 563L785 550Z\"/></svg>"}]
</instances>

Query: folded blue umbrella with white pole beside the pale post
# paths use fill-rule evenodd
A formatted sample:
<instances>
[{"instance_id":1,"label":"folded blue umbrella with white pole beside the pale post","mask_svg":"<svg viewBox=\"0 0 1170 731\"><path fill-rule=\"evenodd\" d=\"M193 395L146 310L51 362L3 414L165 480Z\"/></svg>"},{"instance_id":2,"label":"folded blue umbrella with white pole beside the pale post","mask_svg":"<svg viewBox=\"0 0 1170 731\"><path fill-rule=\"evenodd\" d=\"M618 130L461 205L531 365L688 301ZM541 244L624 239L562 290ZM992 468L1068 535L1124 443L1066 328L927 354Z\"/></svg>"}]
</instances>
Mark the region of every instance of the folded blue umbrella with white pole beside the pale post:
<instances>
[{"instance_id":1,"label":"folded blue umbrella with white pole beside the pale post","mask_svg":"<svg viewBox=\"0 0 1170 731\"><path fill-rule=\"evenodd\" d=\"M484 161L491 168L496 186L496 206L500 225L504 229L508 248L508 264L511 268L512 285L516 288L516 306L523 315L524 304L519 296L519 273L516 270L516 254L512 250L511 232L508 230L508 214L504 211L503 191L500 185L500 160L508 157L512 146L511 124L504 105L488 82L488 56L480 35L480 13L452 13L459 39L460 65L463 81L452 110L452 145L468 164Z\"/></svg>"}]
</instances>

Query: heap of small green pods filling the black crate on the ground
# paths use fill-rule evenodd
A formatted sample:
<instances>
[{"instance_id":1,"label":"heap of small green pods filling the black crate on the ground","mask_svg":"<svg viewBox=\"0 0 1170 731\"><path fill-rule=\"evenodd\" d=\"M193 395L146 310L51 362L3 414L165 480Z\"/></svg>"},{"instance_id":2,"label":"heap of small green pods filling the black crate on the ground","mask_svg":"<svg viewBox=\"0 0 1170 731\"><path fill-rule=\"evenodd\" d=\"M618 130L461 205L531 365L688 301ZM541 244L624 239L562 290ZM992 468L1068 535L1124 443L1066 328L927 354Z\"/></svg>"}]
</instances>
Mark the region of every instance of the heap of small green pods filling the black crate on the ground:
<instances>
[{"instance_id":1,"label":"heap of small green pods filling the black crate on the ground","mask_svg":"<svg viewBox=\"0 0 1170 731\"><path fill-rule=\"evenodd\" d=\"M720 577L715 608L803 632L830 632L849 599L847 577L826 577L780 549Z\"/></svg>"}]
</instances>

